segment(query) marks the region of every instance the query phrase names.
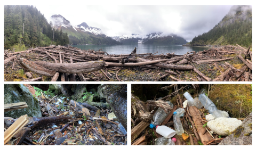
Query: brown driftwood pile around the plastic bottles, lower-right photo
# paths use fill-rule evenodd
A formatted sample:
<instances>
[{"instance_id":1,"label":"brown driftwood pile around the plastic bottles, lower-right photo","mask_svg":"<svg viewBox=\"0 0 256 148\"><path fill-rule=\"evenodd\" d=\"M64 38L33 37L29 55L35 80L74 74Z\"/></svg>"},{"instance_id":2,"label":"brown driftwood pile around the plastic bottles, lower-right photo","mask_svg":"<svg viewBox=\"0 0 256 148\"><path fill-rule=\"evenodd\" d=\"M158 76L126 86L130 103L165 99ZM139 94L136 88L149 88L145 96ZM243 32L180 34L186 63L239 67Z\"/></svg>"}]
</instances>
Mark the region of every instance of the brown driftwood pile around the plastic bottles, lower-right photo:
<instances>
[{"instance_id":1,"label":"brown driftwood pile around the plastic bottles, lower-right photo","mask_svg":"<svg viewBox=\"0 0 256 148\"><path fill-rule=\"evenodd\" d=\"M199 87L197 84L193 86L197 89ZM162 89L169 90L172 87L175 87L175 85L172 84L170 86L163 87ZM183 96L179 95L178 92L182 92L182 89L185 89L185 87L182 87L157 101L148 100L147 102L143 102L139 100L139 97L132 94L132 145L155 145L156 138L162 137L156 133L155 128L149 128L149 124L151 123L151 120L153 120L153 115L158 108L163 109L167 113L166 118L160 125L165 125L175 130L172 118L173 112L179 108L183 108L182 102L184 102L186 98L182 98ZM171 98L171 96L177 97L177 105L174 105L172 109L170 109L170 105L166 102L166 99ZM217 145L226 137L222 136L220 138L217 133L210 133L211 129L205 126L207 121L205 119L204 109L197 109L195 106L187 106L184 109L186 112L180 119L185 133L182 134L182 136L174 136L177 139L175 145Z\"/></svg>"}]
</instances>

